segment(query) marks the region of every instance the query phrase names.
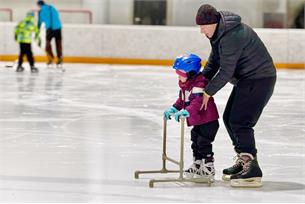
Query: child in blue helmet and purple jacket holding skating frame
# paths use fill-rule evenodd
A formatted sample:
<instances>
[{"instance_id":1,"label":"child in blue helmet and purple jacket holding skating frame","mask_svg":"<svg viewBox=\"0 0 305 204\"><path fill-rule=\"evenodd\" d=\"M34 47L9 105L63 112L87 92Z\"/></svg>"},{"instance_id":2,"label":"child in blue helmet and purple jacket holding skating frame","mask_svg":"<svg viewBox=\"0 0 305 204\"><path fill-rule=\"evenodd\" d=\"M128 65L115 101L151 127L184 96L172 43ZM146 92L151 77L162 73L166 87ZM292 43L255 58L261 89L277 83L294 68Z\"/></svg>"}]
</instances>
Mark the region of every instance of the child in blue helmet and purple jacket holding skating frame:
<instances>
[{"instance_id":1,"label":"child in blue helmet and purple jacket holding skating frame","mask_svg":"<svg viewBox=\"0 0 305 204\"><path fill-rule=\"evenodd\" d=\"M166 119L175 120L186 117L191 130L193 164L184 171L187 178L210 177L214 179L214 153L212 142L219 128L218 111L211 97L207 110L200 110L204 87L207 80L200 72L201 59L194 54L185 54L176 58L173 68L179 78L179 98L176 103L164 112Z\"/></svg>"}]
</instances>

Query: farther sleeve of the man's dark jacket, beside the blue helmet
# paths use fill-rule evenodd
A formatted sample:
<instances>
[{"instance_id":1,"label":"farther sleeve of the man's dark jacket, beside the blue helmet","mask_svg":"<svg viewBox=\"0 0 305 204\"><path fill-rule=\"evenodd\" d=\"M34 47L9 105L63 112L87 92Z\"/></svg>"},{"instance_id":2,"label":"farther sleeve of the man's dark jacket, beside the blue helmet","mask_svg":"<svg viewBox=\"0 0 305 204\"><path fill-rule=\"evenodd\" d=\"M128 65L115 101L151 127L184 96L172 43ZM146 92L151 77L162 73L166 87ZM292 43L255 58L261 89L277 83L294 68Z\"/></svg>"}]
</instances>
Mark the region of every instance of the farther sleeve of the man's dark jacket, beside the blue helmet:
<instances>
[{"instance_id":1,"label":"farther sleeve of the man's dark jacket, beside the blue helmet","mask_svg":"<svg viewBox=\"0 0 305 204\"><path fill-rule=\"evenodd\" d=\"M212 45L212 50L207 64L202 70L202 74L206 79L211 80L219 70L219 53L215 46Z\"/></svg>"}]
</instances>

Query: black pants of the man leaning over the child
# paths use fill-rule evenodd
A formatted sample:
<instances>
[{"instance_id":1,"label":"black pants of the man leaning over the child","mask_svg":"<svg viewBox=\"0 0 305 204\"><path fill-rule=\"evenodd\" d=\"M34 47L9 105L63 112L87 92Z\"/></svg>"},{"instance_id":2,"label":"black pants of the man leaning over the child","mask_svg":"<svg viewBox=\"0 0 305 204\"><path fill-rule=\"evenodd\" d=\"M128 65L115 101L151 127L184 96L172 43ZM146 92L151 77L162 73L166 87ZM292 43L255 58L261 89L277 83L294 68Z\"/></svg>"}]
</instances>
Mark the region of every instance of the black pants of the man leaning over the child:
<instances>
[{"instance_id":1,"label":"black pants of the man leaning over the child","mask_svg":"<svg viewBox=\"0 0 305 204\"><path fill-rule=\"evenodd\" d=\"M276 76L245 80L234 86L223 121L237 153L256 156L253 127L273 94L275 82Z\"/></svg>"}]
</instances>

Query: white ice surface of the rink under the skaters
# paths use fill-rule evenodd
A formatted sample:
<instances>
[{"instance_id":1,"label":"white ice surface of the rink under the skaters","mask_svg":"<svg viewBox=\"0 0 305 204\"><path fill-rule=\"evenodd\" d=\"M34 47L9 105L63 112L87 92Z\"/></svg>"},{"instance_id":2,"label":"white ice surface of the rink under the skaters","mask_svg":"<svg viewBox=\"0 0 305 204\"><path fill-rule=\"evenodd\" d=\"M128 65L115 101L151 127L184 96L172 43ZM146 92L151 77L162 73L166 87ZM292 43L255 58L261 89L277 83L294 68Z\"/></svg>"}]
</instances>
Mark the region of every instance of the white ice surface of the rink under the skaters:
<instances>
[{"instance_id":1,"label":"white ice surface of the rink under the skaters","mask_svg":"<svg viewBox=\"0 0 305 204\"><path fill-rule=\"evenodd\" d=\"M170 67L66 64L31 74L0 63L0 202L305 202L305 71L279 70L256 126L264 186L231 188L235 156L222 120L216 182L157 183L135 170L161 168L162 113L178 94ZM232 86L215 96L222 114ZM185 165L192 156L186 129ZM168 126L178 158L179 125ZM172 165L170 165L172 166ZM173 166L175 167L175 166ZM173 177L174 175L169 175ZM176 176L174 176L176 177Z\"/></svg>"}]
</instances>

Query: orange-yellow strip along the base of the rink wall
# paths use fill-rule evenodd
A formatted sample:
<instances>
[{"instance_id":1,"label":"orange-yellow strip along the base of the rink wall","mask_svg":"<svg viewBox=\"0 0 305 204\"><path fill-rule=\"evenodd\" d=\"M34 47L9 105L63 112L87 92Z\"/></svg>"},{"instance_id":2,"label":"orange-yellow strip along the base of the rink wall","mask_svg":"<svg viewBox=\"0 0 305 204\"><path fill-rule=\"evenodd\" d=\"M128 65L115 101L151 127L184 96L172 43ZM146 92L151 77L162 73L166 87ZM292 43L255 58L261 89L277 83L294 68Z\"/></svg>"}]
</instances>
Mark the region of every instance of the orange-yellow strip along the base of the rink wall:
<instances>
[{"instance_id":1,"label":"orange-yellow strip along the base of the rink wall","mask_svg":"<svg viewBox=\"0 0 305 204\"><path fill-rule=\"evenodd\" d=\"M15 61L17 55L0 55L0 61ZM25 59L26 60L26 59ZM46 62L47 58L36 56L36 62ZM167 59L131 59L131 58L103 58L103 57L64 57L66 63L86 63L86 64L126 64L126 65L159 65L171 66L173 60ZM203 61L205 64L206 61ZM305 69L304 63L275 63L277 69Z\"/></svg>"}]
</instances>

